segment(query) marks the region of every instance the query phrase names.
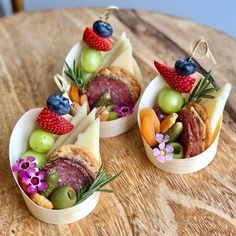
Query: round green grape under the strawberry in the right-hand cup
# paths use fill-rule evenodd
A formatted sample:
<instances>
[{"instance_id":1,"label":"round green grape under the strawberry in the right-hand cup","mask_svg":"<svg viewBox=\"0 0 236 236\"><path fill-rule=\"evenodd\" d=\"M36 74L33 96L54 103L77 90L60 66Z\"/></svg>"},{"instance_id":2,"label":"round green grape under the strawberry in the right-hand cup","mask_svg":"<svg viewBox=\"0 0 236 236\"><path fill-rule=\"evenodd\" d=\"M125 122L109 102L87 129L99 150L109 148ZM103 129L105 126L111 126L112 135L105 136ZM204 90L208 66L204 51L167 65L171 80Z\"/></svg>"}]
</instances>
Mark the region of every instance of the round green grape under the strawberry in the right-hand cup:
<instances>
[{"instance_id":1,"label":"round green grape under the strawberry in the right-hand cup","mask_svg":"<svg viewBox=\"0 0 236 236\"><path fill-rule=\"evenodd\" d=\"M155 105L159 105L162 111L170 114L179 111L183 104L184 98L181 93L169 87L164 87L159 92Z\"/></svg>"}]
</instances>

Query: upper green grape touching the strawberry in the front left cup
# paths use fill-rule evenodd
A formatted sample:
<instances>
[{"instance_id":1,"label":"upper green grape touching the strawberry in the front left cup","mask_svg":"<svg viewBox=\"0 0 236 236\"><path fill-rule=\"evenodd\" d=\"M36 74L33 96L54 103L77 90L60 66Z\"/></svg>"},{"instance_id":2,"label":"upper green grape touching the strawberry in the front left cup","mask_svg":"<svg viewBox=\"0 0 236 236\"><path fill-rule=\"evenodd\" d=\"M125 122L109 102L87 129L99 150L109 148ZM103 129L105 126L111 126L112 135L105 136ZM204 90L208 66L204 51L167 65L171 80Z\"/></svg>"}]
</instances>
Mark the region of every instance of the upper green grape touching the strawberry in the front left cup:
<instances>
[{"instance_id":1,"label":"upper green grape touching the strawberry in the front left cup","mask_svg":"<svg viewBox=\"0 0 236 236\"><path fill-rule=\"evenodd\" d=\"M29 145L30 147L40 153L47 153L53 146L55 138L49 132L41 129L36 129L30 135Z\"/></svg>"}]
</instances>

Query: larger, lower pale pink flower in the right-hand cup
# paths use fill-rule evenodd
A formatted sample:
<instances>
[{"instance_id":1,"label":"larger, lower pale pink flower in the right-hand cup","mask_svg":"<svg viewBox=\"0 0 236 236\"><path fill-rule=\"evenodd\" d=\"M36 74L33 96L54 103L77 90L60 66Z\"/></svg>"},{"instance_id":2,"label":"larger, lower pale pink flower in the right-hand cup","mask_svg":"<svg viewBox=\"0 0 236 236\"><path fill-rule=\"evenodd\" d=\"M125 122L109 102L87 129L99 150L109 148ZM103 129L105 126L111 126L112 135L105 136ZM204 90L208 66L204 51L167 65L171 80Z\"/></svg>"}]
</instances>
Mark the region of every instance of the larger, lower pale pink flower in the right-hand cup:
<instances>
[{"instance_id":1,"label":"larger, lower pale pink flower in the right-hand cup","mask_svg":"<svg viewBox=\"0 0 236 236\"><path fill-rule=\"evenodd\" d=\"M165 163L166 161L173 159L173 151L174 148L172 146L168 144L166 145L165 142L162 142L157 148L152 150L152 153L159 162Z\"/></svg>"}]
</instances>

